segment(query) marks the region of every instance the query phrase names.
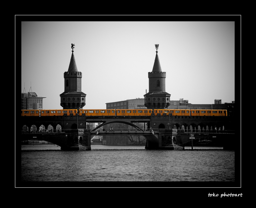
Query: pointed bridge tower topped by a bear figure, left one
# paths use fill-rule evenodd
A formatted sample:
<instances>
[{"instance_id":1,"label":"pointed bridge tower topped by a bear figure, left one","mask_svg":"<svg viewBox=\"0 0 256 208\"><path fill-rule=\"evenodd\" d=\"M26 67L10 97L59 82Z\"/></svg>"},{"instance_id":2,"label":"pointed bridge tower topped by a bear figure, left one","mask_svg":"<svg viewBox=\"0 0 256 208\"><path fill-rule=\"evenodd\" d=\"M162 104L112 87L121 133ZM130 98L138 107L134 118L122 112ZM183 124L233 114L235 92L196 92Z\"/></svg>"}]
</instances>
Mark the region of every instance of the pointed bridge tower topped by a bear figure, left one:
<instances>
[{"instance_id":1,"label":"pointed bridge tower topped by a bear figure, left one","mask_svg":"<svg viewBox=\"0 0 256 208\"><path fill-rule=\"evenodd\" d=\"M74 45L68 71L64 72L64 92L60 94L60 105L63 109L83 109L86 94L82 92L82 72L77 70L74 57Z\"/></svg>"}]
</instances>

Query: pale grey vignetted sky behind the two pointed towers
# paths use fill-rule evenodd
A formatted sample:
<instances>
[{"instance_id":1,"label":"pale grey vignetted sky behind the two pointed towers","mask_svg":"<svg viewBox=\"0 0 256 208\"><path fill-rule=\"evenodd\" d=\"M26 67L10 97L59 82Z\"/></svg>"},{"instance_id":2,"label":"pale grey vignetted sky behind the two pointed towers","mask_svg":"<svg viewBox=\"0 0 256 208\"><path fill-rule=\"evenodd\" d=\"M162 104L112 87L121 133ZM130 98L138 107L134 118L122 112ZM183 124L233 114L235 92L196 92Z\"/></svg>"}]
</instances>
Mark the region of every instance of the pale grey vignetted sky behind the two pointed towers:
<instances>
[{"instance_id":1,"label":"pale grey vignetted sky behind the two pointed towers","mask_svg":"<svg viewBox=\"0 0 256 208\"><path fill-rule=\"evenodd\" d=\"M82 72L83 109L144 98L156 49L170 100L192 104L235 100L234 22L230 21L24 21L21 92L31 88L44 109L62 109L63 73L71 43Z\"/></svg>"}]
</instances>

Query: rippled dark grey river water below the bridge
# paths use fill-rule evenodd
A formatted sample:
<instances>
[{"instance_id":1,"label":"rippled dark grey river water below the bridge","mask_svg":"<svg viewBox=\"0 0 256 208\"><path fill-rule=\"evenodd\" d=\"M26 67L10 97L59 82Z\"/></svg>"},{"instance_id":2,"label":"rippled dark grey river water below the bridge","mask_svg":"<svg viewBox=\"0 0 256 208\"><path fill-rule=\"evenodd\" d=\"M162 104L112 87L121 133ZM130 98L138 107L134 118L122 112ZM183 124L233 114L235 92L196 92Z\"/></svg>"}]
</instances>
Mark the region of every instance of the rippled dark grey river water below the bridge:
<instances>
[{"instance_id":1,"label":"rippled dark grey river water below the bridge","mask_svg":"<svg viewBox=\"0 0 256 208\"><path fill-rule=\"evenodd\" d=\"M147 150L145 146L91 145L91 151L63 151L57 145L22 145L20 162L21 182L235 180L235 151L223 147L193 147L192 151L191 147Z\"/></svg>"}]
</instances>

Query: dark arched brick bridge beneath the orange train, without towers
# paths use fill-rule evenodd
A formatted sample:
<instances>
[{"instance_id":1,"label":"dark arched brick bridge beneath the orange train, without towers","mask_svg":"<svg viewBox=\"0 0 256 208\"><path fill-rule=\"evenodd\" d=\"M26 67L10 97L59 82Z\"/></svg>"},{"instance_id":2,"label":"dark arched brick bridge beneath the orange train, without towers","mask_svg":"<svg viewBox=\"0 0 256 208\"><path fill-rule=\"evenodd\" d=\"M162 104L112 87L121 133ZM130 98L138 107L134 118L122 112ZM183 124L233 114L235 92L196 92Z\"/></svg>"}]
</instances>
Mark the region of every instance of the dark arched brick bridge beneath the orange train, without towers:
<instances>
[{"instance_id":1,"label":"dark arched brick bridge beneath the orange train, without towers","mask_svg":"<svg viewBox=\"0 0 256 208\"><path fill-rule=\"evenodd\" d=\"M95 129L89 129L88 123L102 123ZM134 123L147 123L152 127L153 132L147 129L140 129ZM99 132L97 129L110 123L124 123L137 128L134 132ZM51 125L54 132L40 134L22 134L22 140L30 140L36 137L36 140L49 141L61 146L61 149L91 149L90 139L95 135L143 135L147 139L146 149L184 149L185 146L191 146L193 133L193 142L199 140L218 141L223 144L224 149L234 149L235 144L240 141L240 137L234 137L236 128L233 117L205 117L205 116L28 116L22 117L20 128L24 125L30 127L35 125L37 129L41 125L46 128ZM61 126L62 133L56 132L57 125ZM176 130L174 129L176 126ZM220 128L221 130L216 131ZM223 130L224 127L224 130ZM192 128L192 129L191 129ZM216 131L216 132L215 132ZM23 132L24 133L24 132ZM35 139L35 138L34 138Z\"/></svg>"}]
</instances>

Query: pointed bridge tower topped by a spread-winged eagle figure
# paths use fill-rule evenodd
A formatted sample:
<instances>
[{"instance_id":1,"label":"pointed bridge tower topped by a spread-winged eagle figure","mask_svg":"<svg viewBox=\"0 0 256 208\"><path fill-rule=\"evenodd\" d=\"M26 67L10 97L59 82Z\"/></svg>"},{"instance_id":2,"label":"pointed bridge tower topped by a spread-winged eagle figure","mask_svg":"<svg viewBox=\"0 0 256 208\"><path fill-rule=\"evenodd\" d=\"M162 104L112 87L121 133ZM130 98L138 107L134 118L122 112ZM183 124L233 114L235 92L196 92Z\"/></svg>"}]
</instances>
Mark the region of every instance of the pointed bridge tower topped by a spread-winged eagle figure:
<instances>
[{"instance_id":1,"label":"pointed bridge tower topped by a spread-winged eagle figure","mask_svg":"<svg viewBox=\"0 0 256 208\"><path fill-rule=\"evenodd\" d=\"M171 95L165 92L166 72L162 72L161 69L161 65L157 55L158 45L155 45L156 57L153 70L152 72L148 72L149 90L148 93L144 95L144 105L148 109L167 109L170 105Z\"/></svg>"}]
</instances>

